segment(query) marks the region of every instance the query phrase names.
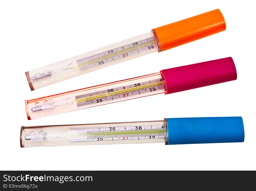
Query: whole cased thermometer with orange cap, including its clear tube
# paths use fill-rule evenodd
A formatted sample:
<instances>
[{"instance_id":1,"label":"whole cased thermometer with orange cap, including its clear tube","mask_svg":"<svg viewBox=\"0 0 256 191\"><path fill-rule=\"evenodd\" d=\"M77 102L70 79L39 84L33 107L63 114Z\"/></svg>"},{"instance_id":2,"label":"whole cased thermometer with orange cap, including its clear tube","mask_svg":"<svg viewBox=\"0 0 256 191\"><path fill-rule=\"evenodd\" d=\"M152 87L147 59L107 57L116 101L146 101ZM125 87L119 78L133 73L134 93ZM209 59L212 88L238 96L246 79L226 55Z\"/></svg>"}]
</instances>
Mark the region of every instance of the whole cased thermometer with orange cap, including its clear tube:
<instances>
[{"instance_id":1,"label":"whole cased thermometer with orange cap, including its clear tube","mask_svg":"<svg viewBox=\"0 0 256 191\"><path fill-rule=\"evenodd\" d=\"M152 52L160 52L224 31L216 9L88 53L26 72L31 91Z\"/></svg>"}]
</instances>

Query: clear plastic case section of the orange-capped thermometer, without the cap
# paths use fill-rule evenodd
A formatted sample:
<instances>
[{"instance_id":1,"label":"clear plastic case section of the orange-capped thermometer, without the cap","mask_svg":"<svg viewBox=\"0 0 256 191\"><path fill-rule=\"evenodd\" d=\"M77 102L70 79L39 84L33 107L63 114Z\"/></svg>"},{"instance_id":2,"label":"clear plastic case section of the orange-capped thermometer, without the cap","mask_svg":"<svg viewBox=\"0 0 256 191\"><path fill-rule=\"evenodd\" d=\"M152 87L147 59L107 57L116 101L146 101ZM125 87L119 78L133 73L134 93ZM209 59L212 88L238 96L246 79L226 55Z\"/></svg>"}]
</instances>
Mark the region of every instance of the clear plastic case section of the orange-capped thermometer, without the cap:
<instances>
[{"instance_id":1,"label":"clear plastic case section of the orange-capped thermometer, without the cap","mask_svg":"<svg viewBox=\"0 0 256 191\"><path fill-rule=\"evenodd\" d=\"M31 90L159 51L152 31L26 72Z\"/></svg>"}]
</instances>

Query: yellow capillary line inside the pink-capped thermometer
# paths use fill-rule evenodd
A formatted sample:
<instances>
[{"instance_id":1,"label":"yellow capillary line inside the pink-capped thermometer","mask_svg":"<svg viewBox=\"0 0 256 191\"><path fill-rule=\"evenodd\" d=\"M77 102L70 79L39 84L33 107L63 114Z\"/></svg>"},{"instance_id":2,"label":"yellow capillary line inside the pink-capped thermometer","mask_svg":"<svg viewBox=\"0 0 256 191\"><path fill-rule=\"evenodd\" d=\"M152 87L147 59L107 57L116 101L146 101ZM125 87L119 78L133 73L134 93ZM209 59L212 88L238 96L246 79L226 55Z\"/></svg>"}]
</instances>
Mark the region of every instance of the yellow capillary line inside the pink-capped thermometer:
<instances>
[{"instance_id":1,"label":"yellow capillary line inside the pink-capped thermometer","mask_svg":"<svg viewBox=\"0 0 256 191\"><path fill-rule=\"evenodd\" d=\"M162 81L160 81L160 82L154 82L154 83L150 83L150 84L146 84L146 85L141 85L141 86L138 86L138 87L136 87L136 88L133 87L133 88L127 88L127 89L125 89L125 90L117 90L117 91L112 92L111 94L104 93L104 94L99 94L99 95L97 95L97 96L90 96L90 97L88 97L88 98L86 98L86 99L84 99L84 98L75 99L75 100L73 100L73 101L79 103L79 102L81 102L81 101L86 101L86 100L89 100L89 99L100 98L100 97L104 97L104 96L110 96L110 95L117 94L117 93L127 92L127 91L130 91L130 90L138 90L138 89L141 89L141 88L147 88L147 87L150 87L150 86L152 86L152 85L160 85L160 84L163 84L163 82L162 82ZM81 99L82 99L82 100L81 100Z\"/></svg>"}]
</instances>

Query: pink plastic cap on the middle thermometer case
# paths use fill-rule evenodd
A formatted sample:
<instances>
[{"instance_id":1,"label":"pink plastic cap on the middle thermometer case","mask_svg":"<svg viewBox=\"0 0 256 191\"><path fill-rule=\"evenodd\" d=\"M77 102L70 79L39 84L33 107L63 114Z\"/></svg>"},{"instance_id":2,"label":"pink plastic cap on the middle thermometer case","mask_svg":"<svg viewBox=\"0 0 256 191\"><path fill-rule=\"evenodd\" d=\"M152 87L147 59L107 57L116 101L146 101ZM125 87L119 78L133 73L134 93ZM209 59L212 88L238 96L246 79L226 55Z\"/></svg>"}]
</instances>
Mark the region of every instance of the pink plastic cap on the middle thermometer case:
<instances>
[{"instance_id":1,"label":"pink plastic cap on the middle thermometer case","mask_svg":"<svg viewBox=\"0 0 256 191\"><path fill-rule=\"evenodd\" d=\"M162 70L166 94L237 79L231 57Z\"/></svg>"}]
</instances>

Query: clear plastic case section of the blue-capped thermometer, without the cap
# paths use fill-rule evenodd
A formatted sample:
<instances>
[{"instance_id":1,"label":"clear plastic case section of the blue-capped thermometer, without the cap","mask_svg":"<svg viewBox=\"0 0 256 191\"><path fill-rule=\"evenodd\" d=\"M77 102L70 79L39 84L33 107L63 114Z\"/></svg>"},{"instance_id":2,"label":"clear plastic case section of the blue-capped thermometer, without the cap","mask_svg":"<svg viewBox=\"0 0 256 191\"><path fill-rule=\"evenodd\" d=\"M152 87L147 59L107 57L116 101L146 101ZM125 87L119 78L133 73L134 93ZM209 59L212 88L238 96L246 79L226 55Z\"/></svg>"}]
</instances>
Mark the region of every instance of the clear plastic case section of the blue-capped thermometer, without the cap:
<instances>
[{"instance_id":1,"label":"clear plastic case section of the blue-capped thermometer, without the cap","mask_svg":"<svg viewBox=\"0 0 256 191\"><path fill-rule=\"evenodd\" d=\"M166 142L166 121L25 126L21 147Z\"/></svg>"}]
</instances>

